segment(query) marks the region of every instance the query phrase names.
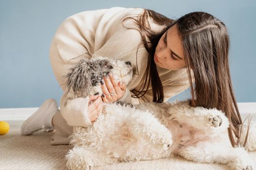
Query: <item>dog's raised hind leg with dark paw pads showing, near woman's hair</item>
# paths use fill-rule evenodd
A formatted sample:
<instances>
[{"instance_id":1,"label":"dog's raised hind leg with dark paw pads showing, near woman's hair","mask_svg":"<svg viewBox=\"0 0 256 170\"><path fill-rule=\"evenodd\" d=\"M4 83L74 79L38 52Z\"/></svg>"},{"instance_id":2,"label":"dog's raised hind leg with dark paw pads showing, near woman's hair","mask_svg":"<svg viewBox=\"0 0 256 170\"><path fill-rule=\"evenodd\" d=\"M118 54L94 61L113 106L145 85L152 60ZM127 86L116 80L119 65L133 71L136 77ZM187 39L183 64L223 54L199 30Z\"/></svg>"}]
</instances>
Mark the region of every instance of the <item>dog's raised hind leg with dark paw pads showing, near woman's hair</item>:
<instances>
[{"instance_id":1,"label":"dog's raised hind leg with dark paw pads showing, near woman's hair","mask_svg":"<svg viewBox=\"0 0 256 170\"><path fill-rule=\"evenodd\" d=\"M185 123L198 130L221 133L229 126L229 121L223 112L217 109L206 109L204 107L190 107L176 104L168 109L171 119L180 124Z\"/></svg>"}]
</instances>

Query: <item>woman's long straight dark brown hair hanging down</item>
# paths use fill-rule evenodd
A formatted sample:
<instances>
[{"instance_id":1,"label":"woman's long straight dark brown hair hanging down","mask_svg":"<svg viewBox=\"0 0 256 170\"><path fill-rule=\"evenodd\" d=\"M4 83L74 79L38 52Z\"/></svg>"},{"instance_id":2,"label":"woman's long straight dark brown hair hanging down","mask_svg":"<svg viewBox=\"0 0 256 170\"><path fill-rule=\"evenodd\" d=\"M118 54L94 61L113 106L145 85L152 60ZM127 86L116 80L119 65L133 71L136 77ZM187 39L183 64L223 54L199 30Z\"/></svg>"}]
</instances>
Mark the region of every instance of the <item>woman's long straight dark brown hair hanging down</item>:
<instances>
[{"instance_id":1,"label":"woman's long straight dark brown hair hanging down","mask_svg":"<svg viewBox=\"0 0 256 170\"><path fill-rule=\"evenodd\" d=\"M149 17L155 23L165 26L160 33L155 33L150 29ZM132 97L140 98L145 95L149 89L149 83L151 83L153 102L164 101L163 86L153 57L161 36L171 26L177 24L191 86L190 105L192 107L202 106L208 109L216 108L224 112L230 121L230 127L228 128L230 142L233 147L239 145L243 123L230 77L230 41L225 24L205 12L192 12L174 20L153 10L144 9L144 12L137 19L126 17L123 22L128 18L139 26L137 30L140 32L142 43L149 53L146 73L143 78L144 85ZM147 41L147 38L149 41ZM194 76L194 86L190 72L191 68ZM249 126L243 146L246 144L248 131Z\"/></svg>"}]
</instances>

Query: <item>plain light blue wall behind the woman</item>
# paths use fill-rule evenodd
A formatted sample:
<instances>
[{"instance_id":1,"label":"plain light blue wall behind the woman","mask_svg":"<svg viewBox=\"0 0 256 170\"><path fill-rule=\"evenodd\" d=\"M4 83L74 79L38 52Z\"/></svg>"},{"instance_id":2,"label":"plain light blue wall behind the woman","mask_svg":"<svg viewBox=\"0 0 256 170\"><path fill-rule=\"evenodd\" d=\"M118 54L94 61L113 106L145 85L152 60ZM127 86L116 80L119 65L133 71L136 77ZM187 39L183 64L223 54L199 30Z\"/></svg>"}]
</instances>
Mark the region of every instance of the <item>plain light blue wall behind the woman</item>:
<instances>
[{"instance_id":1,"label":"plain light blue wall behind the woman","mask_svg":"<svg viewBox=\"0 0 256 170\"><path fill-rule=\"evenodd\" d=\"M49 46L66 17L86 10L141 7L178 18L204 11L222 20L231 38L230 67L237 102L256 102L255 0L0 0L0 108L39 107L63 94ZM185 99L186 90L171 100Z\"/></svg>"}]
</instances>

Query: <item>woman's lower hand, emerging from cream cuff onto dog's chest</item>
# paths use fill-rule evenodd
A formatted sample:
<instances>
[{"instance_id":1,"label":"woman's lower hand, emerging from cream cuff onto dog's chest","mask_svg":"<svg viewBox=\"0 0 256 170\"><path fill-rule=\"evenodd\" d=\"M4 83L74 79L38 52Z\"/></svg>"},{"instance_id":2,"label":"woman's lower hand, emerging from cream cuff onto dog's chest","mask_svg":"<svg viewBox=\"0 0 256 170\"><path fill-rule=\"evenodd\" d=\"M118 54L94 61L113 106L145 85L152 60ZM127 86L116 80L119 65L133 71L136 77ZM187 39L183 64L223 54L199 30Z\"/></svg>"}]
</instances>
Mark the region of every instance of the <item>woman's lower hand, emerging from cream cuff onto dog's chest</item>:
<instances>
[{"instance_id":1,"label":"woman's lower hand, emerging from cream cuff onto dog's chest","mask_svg":"<svg viewBox=\"0 0 256 170\"><path fill-rule=\"evenodd\" d=\"M101 96L90 95L87 113L88 113L88 118L92 124L98 119L98 116L102 113L102 110L103 110L103 101Z\"/></svg>"}]
</instances>

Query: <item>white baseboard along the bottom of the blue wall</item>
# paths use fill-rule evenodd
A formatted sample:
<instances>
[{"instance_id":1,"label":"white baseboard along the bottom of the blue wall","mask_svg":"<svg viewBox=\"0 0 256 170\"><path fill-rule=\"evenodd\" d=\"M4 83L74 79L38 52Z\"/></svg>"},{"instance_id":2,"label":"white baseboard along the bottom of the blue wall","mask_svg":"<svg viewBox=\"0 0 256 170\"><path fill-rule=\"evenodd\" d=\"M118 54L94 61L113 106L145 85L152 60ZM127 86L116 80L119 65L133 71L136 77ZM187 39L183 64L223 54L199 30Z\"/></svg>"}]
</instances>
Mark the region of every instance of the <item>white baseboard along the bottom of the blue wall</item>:
<instances>
[{"instance_id":1,"label":"white baseboard along the bottom of the blue wall","mask_svg":"<svg viewBox=\"0 0 256 170\"><path fill-rule=\"evenodd\" d=\"M244 119L248 114L256 120L256 102L238 102L238 109ZM38 107L30 108L4 108L0 109L0 121L2 120L25 120L36 112ZM60 109L60 108L59 108Z\"/></svg>"}]
</instances>

